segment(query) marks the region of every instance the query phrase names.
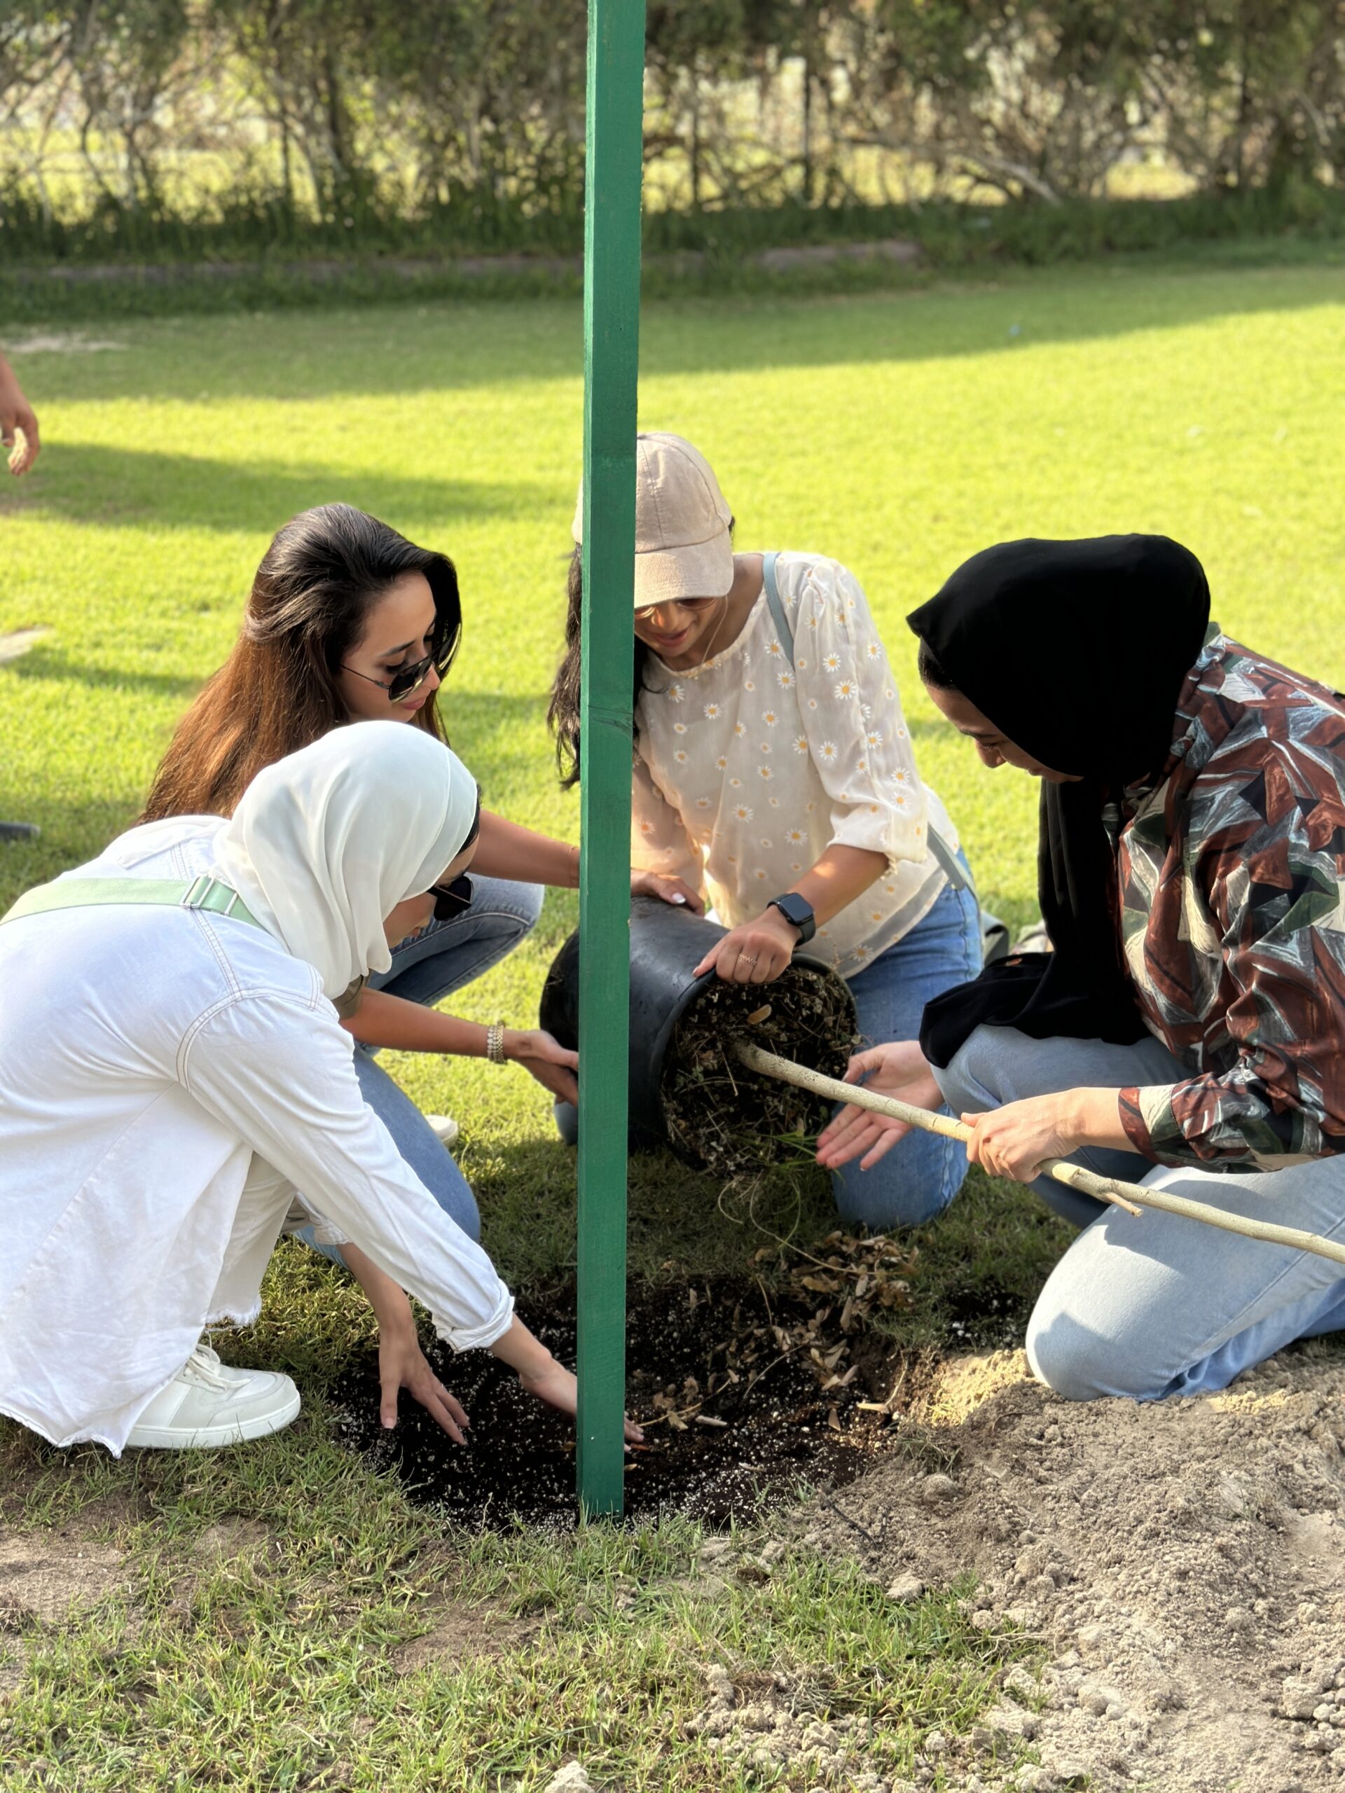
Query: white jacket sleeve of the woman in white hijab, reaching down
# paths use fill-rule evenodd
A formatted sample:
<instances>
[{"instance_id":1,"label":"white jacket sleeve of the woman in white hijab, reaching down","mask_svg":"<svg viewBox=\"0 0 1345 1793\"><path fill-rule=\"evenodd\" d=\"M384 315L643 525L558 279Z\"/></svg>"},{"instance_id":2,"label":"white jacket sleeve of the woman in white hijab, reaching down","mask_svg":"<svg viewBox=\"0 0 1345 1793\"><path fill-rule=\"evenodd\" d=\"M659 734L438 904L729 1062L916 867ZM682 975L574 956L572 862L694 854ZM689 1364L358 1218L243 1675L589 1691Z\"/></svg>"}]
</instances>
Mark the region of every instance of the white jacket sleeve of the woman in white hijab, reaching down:
<instances>
[{"instance_id":1,"label":"white jacket sleeve of the woman in white hijab, reaching down","mask_svg":"<svg viewBox=\"0 0 1345 1793\"><path fill-rule=\"evenodd\" d=\"M206 1113L423 1302L454 1350L508 1330L513 1296L364 1103L350 1035L326 1002L242 993L199 1022L179 1076Z\"/></svg>"}]
</instances>

